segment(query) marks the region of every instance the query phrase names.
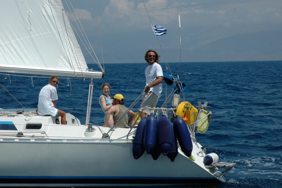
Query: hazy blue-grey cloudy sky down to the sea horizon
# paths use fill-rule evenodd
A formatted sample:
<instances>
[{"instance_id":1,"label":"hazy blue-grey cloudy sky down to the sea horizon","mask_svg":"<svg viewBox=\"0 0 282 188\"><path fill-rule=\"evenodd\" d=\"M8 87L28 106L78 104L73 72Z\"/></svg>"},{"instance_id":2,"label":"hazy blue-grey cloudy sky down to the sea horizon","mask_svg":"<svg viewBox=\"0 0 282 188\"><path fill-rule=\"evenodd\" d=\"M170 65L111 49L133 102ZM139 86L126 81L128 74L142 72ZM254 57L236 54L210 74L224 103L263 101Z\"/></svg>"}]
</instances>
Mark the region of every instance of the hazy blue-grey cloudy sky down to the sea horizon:
<instances>
[{"instance_id":1,"label":"hazy blue-grey cloudy sky down to the sea horizon","mask_svg":"<svg viewBox=\"0 0 282 188\"><path fill-rule=\"evenodd\" d=\"M161 62L282 60L281 0L71 3L101 63L142 63L148 49ZM167 34L156 37L151 24L165 26Z\"/></svg>"}]
</instances>

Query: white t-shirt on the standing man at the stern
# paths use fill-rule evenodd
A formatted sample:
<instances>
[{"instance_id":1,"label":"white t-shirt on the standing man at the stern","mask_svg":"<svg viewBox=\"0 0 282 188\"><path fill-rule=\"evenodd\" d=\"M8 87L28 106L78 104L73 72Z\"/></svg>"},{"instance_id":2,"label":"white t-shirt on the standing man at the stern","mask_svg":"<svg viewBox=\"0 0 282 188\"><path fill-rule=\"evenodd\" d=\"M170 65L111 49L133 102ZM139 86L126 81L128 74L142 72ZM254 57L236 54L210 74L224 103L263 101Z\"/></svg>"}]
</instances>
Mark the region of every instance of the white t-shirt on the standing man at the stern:
<instances>
[{"instance_id":1,"label":"white t-shirt on the standing man at the stern","mask_svg":"<svg viewBox=\"0 0 282 188\"><path fill-rule=\"evenodd\" d=\"M152 83L156 77L164 76L162 66L159 65L158 63L154 63L152 65L147 66L145 69L145 76L146 76L146 86L148 86L148 84ZM157 86L150 88L150 91L156 94L158 98L160 98L161 93L163 91L163 84L161 83Z\"/></svg>"}]
</instances>

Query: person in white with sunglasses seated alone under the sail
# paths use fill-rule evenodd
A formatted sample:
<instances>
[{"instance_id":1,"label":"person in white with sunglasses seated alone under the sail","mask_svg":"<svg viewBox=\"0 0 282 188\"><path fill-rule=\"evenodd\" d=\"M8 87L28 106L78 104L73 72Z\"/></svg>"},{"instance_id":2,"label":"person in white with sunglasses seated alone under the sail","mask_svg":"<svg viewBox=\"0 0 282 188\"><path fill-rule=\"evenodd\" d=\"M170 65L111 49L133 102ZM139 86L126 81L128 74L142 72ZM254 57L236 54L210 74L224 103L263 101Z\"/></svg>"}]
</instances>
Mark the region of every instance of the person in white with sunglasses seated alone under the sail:
<instances>
[{"instance_id":1,"label":"person in white with sunglasses seated alone under the sail","mask_svg":"<svg viewBox=\"0 0 282 188\"><path fill-rule=\"evenodd\" d=\"M56 86L59 84L57 76L51 76L49 84L44 86L39 93L37 113L40 116L51 115L60 116L61 124L66 125L66 112L56 109L56 100L58 100ZM56 122L57 123L57 122Z\"/></svg>"}]
</instances>

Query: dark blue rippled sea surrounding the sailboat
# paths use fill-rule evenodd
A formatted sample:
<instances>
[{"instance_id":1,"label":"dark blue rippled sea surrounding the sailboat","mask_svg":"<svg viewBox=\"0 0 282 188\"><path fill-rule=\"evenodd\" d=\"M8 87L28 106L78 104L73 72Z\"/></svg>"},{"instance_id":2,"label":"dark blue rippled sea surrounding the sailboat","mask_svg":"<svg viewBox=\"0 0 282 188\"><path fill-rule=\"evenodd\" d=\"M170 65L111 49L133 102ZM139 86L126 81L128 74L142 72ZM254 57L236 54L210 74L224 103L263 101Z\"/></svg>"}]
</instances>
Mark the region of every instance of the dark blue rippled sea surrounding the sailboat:
<instances>
[{"instance_id":1,"label":"dark blue rippled sea surrounding the sailboat","mask_svg":"<svg viewBox=\"0 0 282 188\"><path fill-rule=\"evenodd\" d=\"M194 106L198 101L208 101L212 112L210 126L205 133L197 133L197 141L208 152L217 153L220 162L236 163L225 175L226 183L162 187L282 187L282 61L169 63L169 69L164 63L161 65L164 73L178 75L186 84L187 89L180 93L183 101ZM101 84L109 83L111 96L122 94L129 107L144 89L146 66L146 63L105 64L104 78L93 79L90 123L103 125L104 114L98 102ZM92 67L95 69L89 64ZM82 123L89 82L89 79L59 79L57 89L57 107L74 114ZM0 108L37 108L39 91L48 84L48 77L0 75L0 83L3 86L0 86ZM164 83L158 106L172 88ZM134 106L134 111L138 111L140 103Z\"/></svg>"}]
</instances>

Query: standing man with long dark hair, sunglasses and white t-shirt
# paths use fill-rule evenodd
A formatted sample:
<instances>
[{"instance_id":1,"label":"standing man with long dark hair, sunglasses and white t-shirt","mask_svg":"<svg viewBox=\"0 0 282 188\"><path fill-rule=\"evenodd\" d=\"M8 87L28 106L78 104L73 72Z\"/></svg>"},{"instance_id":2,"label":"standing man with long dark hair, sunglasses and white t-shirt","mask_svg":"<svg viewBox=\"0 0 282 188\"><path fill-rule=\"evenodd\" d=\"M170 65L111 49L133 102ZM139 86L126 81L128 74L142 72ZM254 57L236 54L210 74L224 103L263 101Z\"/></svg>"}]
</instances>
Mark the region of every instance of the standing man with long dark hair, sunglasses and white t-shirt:
<instances>
[{"instance_id":1,"label":"standing man with long dark hair, sunglasses and white t-shirt","mask_svg":"<svg viewBox=\"0 0 282 188\"><path fill-rule=\"evenodd\" d=\"M146 86L145 95L141 104L142 108L154 108L163 91L163 69L161 67L159 55L155 50L149 49L145 53L145 61L149 64L145 69ZM140 111L141 112L141 111ZM140 117L149 115L149 109L144 109Z\"/></svg>"}]
</instances>

